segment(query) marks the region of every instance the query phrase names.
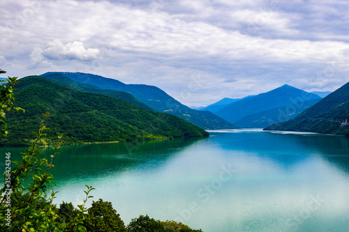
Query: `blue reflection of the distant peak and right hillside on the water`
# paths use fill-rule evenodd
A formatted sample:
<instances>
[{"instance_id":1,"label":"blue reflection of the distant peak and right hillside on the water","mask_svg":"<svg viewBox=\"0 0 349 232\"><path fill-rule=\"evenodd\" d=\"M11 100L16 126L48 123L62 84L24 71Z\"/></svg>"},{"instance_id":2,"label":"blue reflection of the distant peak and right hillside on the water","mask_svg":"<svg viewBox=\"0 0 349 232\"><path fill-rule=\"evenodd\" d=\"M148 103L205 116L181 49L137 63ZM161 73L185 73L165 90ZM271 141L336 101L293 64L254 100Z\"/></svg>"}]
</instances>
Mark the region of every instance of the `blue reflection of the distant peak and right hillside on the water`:
<instances>
[{"instance_id":1,"label":"blue reflection of the distant peak and right hillside on the water","mask_svg":"<svg viewBox=\"0 0 349 232\"><path fill-rule=\"evenodd\" d=\"M216 135L216 136L214 136ZM309 155L321 155L339 169L349 172L349 139L322 134L278 134L269 132L214 133L225 150L268 157L284 167L292 167Z\"/></svg>"}]
</instances>

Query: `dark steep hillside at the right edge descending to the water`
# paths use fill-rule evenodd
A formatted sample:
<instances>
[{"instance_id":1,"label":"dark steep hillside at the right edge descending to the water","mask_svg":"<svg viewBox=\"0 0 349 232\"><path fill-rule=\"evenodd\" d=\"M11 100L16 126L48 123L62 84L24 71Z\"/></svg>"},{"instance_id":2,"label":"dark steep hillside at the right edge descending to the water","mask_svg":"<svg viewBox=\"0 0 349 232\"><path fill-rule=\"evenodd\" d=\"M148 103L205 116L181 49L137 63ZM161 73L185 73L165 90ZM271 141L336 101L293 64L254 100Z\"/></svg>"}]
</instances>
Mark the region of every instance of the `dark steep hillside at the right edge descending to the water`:
<instances>
[{"instance_id":1,"label":"dark steep hillside at the right edge descending to the water","mask_svg":"<svg viewBox=\"0 0 349 232\"><path fill-rule=\"evenodd\" d=\"M292 130L324 134L349 134L349 82L306 109L295 119L265 130Z\"/></svg>"}]
</instances>

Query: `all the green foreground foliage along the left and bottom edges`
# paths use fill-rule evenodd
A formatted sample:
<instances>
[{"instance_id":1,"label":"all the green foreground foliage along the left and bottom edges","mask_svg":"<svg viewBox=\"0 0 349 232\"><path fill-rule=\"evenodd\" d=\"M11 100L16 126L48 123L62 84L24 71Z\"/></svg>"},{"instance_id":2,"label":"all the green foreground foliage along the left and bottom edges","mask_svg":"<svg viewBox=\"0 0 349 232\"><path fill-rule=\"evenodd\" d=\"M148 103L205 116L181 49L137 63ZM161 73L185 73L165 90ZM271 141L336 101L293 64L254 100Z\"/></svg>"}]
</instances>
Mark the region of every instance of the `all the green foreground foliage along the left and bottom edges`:
<instances>
[{"instance_id":1,"label":"all the green foreground foliage along the left and bottom edges","mask_svg":"<svg viewBox=\"0 0 349 232\"><path fill-rule=\"evenodd\" d=\"M3 109L10 111L13 108L15 98L13 98L12 86L14 84L17 84L15 77L9 78L8 84L1 85L0 109L3 118L5 118ZM94 190L91 186L86 185L86 199L78 208L66 202L61 203L57 208L57 205L52 203L57 192L52 190L54 181L50 169L54 167L54 157L59 155L57 150L64 143L62 140L64 134L58 134L56 145L52 147L52 155L46 159L39 144L40 141L46 139L46 133L50 131L45 125L49 116L48 113L44 114L38 132L34 133L36 139L27 148L27 152L22 153L22 160L13 161L12 163L15 164L13 169L11 169L10 162L7 162L10 159L6 160L4 180L0 182L3 185L0 190L1 231L128 231L117 211L112 208L112 203L99 199L94 201L88 210L85 208L87 200L93 197L89 196L90 192ZM1 126L0 137L7 136L6 122L1 121ZM47 194L50 194L50 197L47 197ZM167 223L155 222L157 224ZM141 231L147 231L144 228L142 225L138 227ZM178 231L174 228L162 230L165 229L163 226L161 230L156 231ZM194 230L189 229L189 231Z\"/></svg>"}]
</instances>

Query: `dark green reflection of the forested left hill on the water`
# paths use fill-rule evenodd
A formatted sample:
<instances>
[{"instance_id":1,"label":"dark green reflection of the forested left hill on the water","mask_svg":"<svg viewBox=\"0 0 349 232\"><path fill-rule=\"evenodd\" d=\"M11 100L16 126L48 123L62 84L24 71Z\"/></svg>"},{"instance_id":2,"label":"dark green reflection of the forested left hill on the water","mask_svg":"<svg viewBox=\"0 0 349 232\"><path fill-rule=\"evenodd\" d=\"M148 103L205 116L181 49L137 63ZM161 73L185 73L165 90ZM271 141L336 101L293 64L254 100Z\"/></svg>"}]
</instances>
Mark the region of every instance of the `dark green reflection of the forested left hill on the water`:
<instances>
[{"instance_id":1,"label":"dark green reflection of the forested left hill on the water","mask_svg":"<svg viewBox=\"0 0 349 232\"><path fill-rule=\"evenodd\" d=\"M55 180L81 178L81 176L107 176L135 166L158 167L164 164L177 150L191 146L200 139L172 139L162 141L135 141L119 144L90 144L63 146L54 157L52 175ZM45 149L45 153L52 153ZM89 170L89 171L87 171Z\"/></svg>"}]
</instances>

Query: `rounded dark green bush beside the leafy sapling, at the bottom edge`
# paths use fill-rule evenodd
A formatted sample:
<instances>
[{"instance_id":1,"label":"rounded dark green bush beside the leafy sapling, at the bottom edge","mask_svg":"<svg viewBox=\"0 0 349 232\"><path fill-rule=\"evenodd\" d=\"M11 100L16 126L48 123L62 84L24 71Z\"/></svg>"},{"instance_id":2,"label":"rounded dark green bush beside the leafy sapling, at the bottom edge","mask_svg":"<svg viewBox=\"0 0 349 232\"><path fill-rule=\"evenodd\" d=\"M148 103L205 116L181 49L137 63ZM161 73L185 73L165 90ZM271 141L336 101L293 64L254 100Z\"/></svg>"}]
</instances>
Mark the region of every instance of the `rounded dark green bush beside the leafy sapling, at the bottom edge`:
<instances>
[{"instance_id":1,"label":"rounded dark green bush beside the leafy sapling, at the bottom edge","mask_svg":"<svg viewBox=\"0 0 349 232\"><path fill-rule=\"evenodd\" d=\"M99 199L93 201L85 219L87 231L94 232L126 232L126 226L121 220L112 203Z\"/></svg>"}]
</instances>

